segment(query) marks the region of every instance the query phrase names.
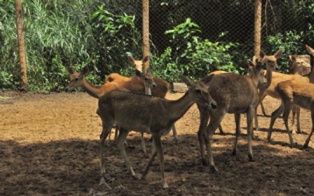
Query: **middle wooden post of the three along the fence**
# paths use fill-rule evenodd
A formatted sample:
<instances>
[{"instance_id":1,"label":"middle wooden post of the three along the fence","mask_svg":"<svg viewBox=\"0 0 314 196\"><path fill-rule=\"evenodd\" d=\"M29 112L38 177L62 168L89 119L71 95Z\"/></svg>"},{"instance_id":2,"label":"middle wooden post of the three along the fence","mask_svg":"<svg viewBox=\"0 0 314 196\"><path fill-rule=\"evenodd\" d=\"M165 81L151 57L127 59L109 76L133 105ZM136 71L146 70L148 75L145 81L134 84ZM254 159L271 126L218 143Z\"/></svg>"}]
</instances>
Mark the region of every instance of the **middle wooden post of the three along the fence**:
<instances>
[{"instance_id":1,"label":"middle wooden post of the three along the fence","mask_svg":"<svg viewBox=\"0 0 314 196\"><path fill-rule=\"evenodd\" d=\"M149 0L142 0L143 15L143 58L149 56ZM149 67L149 60L143 65L143 73Z\"/></svg>"}]
</instances>

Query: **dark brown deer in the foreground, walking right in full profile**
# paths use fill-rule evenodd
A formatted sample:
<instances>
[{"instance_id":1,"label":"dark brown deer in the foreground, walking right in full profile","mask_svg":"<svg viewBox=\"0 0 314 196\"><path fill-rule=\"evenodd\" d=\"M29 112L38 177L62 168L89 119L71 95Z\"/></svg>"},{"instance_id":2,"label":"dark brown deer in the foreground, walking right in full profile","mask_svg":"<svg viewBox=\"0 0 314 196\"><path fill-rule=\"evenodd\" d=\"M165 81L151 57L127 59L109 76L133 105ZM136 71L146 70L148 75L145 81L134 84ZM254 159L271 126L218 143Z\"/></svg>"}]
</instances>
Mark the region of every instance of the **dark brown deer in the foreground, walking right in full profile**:
<instances>
[{"instance_id":1,"label":"dark brown deer in the foreground, walking right in full profile","mask_svg":"<svg viewBox=\"0 0 314 196\"><path fill-rule=\"evenodd\" d=\"M160 137L169 133L174 122L179 120L194 103L205 108L216 108L216 101L211 98L208 86L204 84L211 79L207 76L202 81L192 82L186 76L181 79L188 85L188 91L177 100L167 100L160 97L139 95L134 92L112 90L98 101L99 115L103 122L103 131L100 139L100 173L105 174L103 152L104 142L110 133L113 124L119 126L117 148L124 158L128 172L135 179L144 179L149 167L158 153L160 162L160 176L163 188L168 188L164 176L163 147ZM153 138L153 148L149 161L144 167L142 176L137 176L130 165L130 161L124 149L124 140L130 130L150 133Z\"/></svg>"}]
</instances>

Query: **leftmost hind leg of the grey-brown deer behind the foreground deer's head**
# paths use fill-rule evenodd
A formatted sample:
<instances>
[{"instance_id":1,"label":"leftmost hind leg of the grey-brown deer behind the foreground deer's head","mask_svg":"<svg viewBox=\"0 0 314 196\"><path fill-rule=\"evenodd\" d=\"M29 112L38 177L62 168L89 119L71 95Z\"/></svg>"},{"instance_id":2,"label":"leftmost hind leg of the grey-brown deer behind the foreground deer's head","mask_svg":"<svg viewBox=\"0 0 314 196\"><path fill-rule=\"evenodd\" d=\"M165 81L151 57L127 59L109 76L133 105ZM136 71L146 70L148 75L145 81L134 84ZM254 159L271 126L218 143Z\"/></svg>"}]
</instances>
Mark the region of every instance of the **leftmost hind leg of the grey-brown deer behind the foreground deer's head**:
<instances>
[{"instance_id":1,"label":"leftmost hind leg of the grey-brown deer behind the foreground deer's head","mask_svg":"<svg viewBox=\"0 0 314 196\"><path fill-rule=\"evenodd\" d=\"M197 131L198 141L200 143L200 153L201 153L201 160L202 165L207 165L206 158L204 158L204 133L205 129L207 127L207 123L209 120L209 111L206 108L203 108L202 106L199 106L197 104L197 108L200 111L200 127Z\"/></svg>"}]
</instances>

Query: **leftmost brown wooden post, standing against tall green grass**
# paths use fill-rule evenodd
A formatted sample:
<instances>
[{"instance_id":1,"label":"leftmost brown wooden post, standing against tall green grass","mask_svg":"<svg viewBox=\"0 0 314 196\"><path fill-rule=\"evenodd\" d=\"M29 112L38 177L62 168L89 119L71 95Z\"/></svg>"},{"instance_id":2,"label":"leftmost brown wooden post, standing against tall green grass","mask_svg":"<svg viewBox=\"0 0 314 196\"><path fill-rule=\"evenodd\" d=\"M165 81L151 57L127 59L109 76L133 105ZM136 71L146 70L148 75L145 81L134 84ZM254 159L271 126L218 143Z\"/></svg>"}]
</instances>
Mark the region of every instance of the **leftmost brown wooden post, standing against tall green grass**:
<instances>
[{"instance_id":1,"label":"leftmost brown wooden post, standing against tall green grass","mask_svg":"<svg viewBox=\"0 0 314 196\"><path fill-rule=\"evenodd\" d=\"M16 32L17 43L19 47L19 59L20 59L20 90L27 91L27 61L25 55L24 35L23 35L23 18L22 18L22 2L21 0L15 0L16 9Z\"/></svg>"}]
</instances>

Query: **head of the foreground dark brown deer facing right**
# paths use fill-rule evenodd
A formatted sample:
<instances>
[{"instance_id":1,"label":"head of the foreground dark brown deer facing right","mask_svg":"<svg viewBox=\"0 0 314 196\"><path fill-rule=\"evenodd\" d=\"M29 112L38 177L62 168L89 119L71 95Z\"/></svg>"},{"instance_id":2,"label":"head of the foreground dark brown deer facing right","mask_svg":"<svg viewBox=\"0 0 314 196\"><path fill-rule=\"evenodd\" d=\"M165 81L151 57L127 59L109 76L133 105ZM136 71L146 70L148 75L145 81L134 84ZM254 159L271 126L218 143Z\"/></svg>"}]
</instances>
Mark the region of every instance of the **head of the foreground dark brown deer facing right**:
<instances>
[{"instance_id":1,"label":"head of the foreground dark brown deer facing right","mask_svg":"<svg viewBox=\"0 0 314 196\"><path fill-rule=\"evenodd\" d=\"M190 79L188 79L186 76L181 75L182 81L188 85L188 92L190 95L192 95L193 100L197 104L200 104L202 106L205 106L207 108L216 108L217 103L216 101L211 97L208 91L208 86L205 85L205 83L209 83L214 75L205 76L200 81L192 82Z\"/></svg>"}]
</instances>

